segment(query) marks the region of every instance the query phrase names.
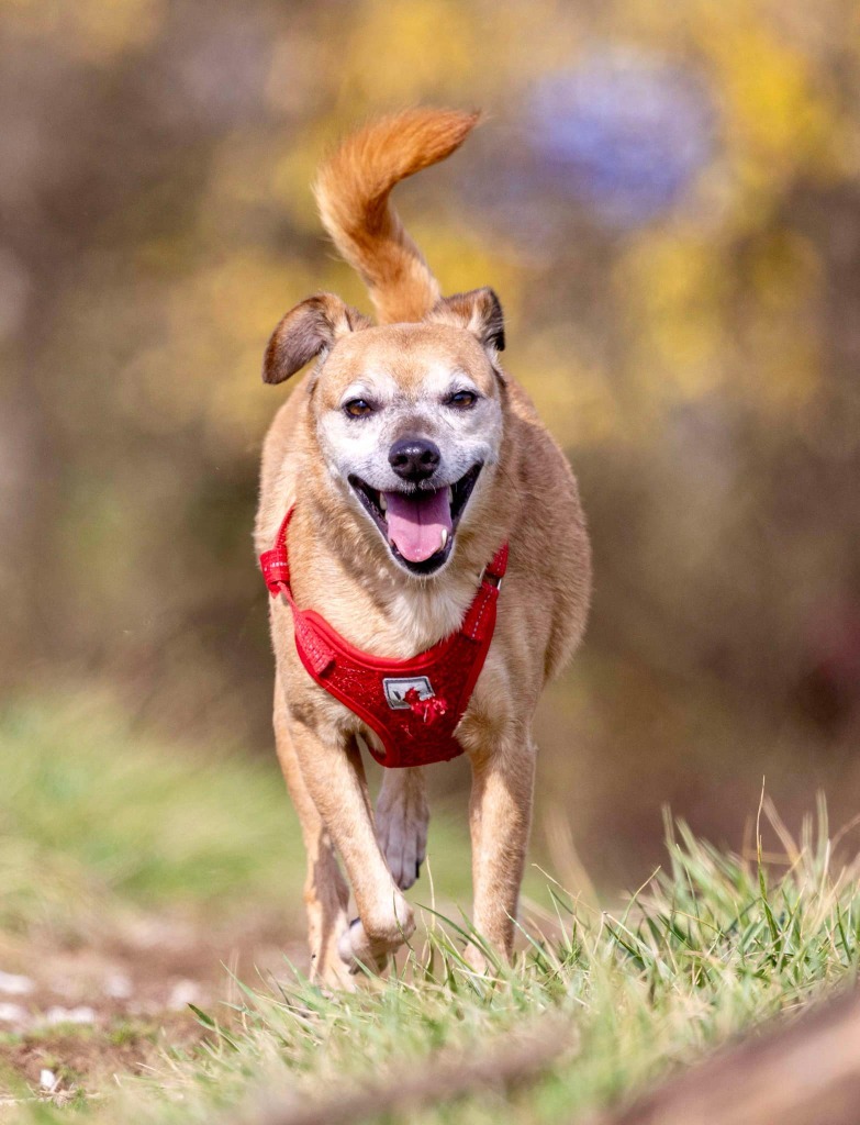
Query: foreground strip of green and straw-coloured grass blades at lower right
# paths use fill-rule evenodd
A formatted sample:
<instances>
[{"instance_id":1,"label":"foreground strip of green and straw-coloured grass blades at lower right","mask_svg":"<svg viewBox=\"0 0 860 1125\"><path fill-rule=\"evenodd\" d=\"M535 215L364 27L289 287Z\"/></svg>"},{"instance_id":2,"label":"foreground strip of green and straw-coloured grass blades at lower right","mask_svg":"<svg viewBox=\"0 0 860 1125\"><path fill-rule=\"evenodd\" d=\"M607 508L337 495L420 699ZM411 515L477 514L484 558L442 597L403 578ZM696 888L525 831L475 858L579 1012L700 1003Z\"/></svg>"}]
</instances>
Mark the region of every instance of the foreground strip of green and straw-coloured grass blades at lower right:
<instances>
[{"instance_id":1,"label":"foreground strip of green and straw-coloured grass blades at lower right","mask_svg":"<svg viewBox=\"0 0 860 1125\"><path fill-rule=\"evenodd\" d=\"M380 1107L391 1097L397 1107L398 1084L422 1072L423 1092L393 1119L574 1119L854 975L857 872L832 876L825 821L790 844L791 866L779 878L682 826L668 853L667 870L618 915L583 912L556 893L553 935L533 932L519 963L492 980L465 969L443 927L398 979L373 982L369 994L326 999L295 981L245 991L229 1028L219 1033L221 1017L209 1014L210 1046L174 1066L181 1109L160 1108L153 1119L211 1120L214 1099L247 1106L281 1091L295 1105L322 1099L319 1119L331 1122L368 1081L379 1084ZM504 1073L505 1052L522 1038L545 1062L534 1081L490 1083L489 1095L481 1082L454 1107L438 1104L440 1058L461 1066L498 1058Z\"/></svg>"}]
</instances>

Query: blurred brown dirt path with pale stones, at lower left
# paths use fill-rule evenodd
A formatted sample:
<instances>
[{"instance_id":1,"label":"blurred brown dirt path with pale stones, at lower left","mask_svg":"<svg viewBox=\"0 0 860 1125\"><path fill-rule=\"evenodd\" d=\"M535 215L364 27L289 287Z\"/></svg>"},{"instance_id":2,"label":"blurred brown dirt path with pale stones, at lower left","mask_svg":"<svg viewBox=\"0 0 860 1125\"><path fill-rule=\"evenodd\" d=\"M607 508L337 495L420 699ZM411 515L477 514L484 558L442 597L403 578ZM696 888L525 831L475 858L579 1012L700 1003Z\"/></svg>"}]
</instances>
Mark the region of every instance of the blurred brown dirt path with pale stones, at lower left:
<instances>
[{"instance_id":1,"label":"blurred brown dirt path with pale stones, at lower left","mask_svg":"<svg viewBox=\"0 0 860 1125\"><path fill-rule=\"evenodd\" d=\"M0 944L0 1120L27 1097L98 1096L114 1076L142 1073L205 1033L189 1004L225 1019L236 974L252 988L302 968L284 919L243 915L207 924L136 915L85 944L35 937Z\"/></svg>"}]
</instances>

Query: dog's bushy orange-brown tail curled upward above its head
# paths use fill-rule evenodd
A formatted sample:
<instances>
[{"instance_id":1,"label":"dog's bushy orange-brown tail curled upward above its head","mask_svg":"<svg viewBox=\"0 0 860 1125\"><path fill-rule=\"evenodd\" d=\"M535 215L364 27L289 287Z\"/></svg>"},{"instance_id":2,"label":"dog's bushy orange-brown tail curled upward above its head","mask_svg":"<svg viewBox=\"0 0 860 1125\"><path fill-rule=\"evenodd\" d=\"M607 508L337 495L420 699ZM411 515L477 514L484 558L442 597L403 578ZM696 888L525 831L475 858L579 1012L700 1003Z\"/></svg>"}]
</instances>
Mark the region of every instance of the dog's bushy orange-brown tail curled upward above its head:
<instances>
[{"instance_id":1,"label":"dog's bushy orange-brown tail curled upward above its head","mask_svg":"<svg viewBox=\"0 0 860 1125\"><path fill-rule=\"evenodd\" d=\"M407 176L450 156L478 123L456 109L407 109L347 137L314 190L334 244L366 284L380 324L422 320L440 298L436 279L389 202Z\"/></svg>"}]
</instances>

